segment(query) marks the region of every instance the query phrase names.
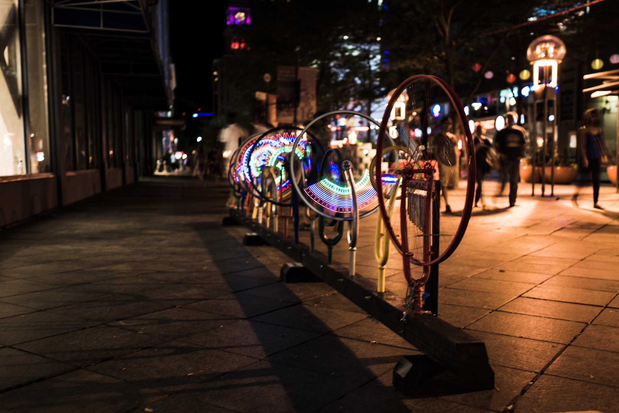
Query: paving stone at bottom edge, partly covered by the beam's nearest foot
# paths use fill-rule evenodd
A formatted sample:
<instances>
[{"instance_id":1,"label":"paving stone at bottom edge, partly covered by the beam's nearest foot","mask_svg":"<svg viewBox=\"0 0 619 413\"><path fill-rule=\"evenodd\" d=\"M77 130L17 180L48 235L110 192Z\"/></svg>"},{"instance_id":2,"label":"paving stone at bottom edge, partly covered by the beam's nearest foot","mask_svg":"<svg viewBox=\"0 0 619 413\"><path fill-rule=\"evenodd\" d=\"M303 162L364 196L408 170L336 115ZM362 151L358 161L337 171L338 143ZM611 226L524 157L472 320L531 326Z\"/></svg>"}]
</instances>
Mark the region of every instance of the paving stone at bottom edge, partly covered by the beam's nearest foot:
<instances>
[{"instance_id":1,"label":"paving stone at bottom edge, partly covered by the beam's nearest foot","mask_svg":"<svg viewBox=\"0 0 619 413\"><path fill-rule=\"evenodd\" d=\"M522 388L535 377L535 373L523 372L514 368L501 366L493 366L492 368L495 370L495 388L493 390L453 394L443 396L443 399L481 409L502 411L517 394L520 394Z\"/></svg>"}]
</instances>

